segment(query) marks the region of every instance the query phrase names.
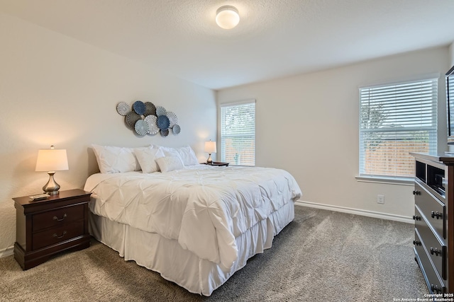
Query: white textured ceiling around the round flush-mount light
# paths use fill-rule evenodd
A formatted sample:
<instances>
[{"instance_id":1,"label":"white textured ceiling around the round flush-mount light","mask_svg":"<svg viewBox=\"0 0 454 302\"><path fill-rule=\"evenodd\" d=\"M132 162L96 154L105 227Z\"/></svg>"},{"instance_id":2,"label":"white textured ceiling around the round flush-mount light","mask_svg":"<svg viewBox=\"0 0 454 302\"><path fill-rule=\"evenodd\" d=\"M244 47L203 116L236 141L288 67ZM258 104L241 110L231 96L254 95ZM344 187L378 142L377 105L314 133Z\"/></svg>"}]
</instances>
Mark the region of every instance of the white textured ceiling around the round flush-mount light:
<instances>
[{"instance_id":1,"label":"white textured ceiling around the round flush-mount light","mask_svg":"<svg viewBox=\"0 0 454 302\"><path fill-rule=\"evenodd\" d=\"M240 23L218 28L233 5ZM0 11L213 89L449 45L453 0L0 0Z\"/></svg>"}]
</instances>

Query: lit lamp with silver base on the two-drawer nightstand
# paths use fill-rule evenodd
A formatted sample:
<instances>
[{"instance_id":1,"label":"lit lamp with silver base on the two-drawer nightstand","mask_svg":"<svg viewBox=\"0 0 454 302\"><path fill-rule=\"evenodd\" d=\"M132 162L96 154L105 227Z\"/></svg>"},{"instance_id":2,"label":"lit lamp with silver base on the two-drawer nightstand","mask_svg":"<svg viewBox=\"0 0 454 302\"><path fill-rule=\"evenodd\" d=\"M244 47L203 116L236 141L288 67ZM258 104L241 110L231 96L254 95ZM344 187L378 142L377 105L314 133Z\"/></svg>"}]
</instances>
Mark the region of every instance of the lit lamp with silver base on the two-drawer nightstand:
<instances>
[{"instance_id":1,"label":"lit lamp with silver base on the two-drawer nightstand","mask_svg":"<svg viewBox=\"0 0 454 302\"><path fill-rule=\"evenodd\" d=\"M60 185L54 180L55 171L68 170L68 158L66 149L55 149L50 146L50 149L38 150L38 159L36 160L35 171L47 171L49 181L43 187L43 191L50 195L58 194Z\"/></svg>"}]
</instances>

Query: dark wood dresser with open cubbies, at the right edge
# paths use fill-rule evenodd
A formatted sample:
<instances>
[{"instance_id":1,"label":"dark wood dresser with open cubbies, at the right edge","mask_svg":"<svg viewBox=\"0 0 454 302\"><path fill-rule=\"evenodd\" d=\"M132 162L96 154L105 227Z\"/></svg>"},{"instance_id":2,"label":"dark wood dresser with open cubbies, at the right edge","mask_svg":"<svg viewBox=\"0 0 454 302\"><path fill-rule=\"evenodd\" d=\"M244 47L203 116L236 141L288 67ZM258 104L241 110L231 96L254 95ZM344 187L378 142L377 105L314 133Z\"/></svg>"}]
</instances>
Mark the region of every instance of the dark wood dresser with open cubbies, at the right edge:
<instances>
[{"instance_id":1,"label":"dark wood dresser with open cubbies, at the right edge","mask_svg":"<svg viewBox=\"0 0 454 302\"><path fill-rule=\"evenodd\" d=\"M416 160L414 253L431 294L454 292L454 156Z\"/></svg>"}]
</instances>

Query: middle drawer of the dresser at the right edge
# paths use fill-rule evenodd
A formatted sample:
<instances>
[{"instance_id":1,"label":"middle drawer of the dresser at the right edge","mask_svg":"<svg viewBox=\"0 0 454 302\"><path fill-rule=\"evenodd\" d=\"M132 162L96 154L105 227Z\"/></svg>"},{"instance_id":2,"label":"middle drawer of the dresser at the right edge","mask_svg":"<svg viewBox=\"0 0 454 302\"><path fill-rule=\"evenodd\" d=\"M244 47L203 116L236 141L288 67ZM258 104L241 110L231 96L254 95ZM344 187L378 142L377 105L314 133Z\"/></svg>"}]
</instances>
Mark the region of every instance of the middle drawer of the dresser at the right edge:
<instances>
[{"instance_id":1,"label":"middle drawer of the dresser at the right edge","mask_svg":"<svg viewBox=\"0 0 454 302\"><path fill-rule=\"evenodd\" d=\"M415 206L415 215L421 216L418 206ZM433 265L438 271L438 274L443 279L447 279L446 245L438 240L438 237L432 232L431 228L429 228L424 218L416 219L415 226L417 228L417 231L419 231L421 242L423 242L424 248L428 252L428 257L431 258Z\"/></svg>"}]
</instances>

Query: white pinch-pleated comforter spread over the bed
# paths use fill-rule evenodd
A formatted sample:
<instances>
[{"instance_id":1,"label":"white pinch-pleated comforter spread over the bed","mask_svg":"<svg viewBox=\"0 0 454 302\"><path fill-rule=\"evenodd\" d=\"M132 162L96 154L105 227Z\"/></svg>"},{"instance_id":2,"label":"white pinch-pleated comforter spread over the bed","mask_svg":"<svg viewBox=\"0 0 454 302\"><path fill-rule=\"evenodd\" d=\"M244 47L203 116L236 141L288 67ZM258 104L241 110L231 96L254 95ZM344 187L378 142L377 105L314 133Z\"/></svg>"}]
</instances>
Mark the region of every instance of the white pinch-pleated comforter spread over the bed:
<instances>
[{"instance_id":1,"label":"white pinch-pleated comforter spread over the bed","mask_svg":"<svg viewBox=\"0 0 454 302\"><path fill-rule=\"evenodd\" d=\"M167 173L98 173L84 190L92 192L94 214L178 240L226 272L238 257L235 238L301 197L285 170L209 165Z\"/></svg>"}]
</instances>

